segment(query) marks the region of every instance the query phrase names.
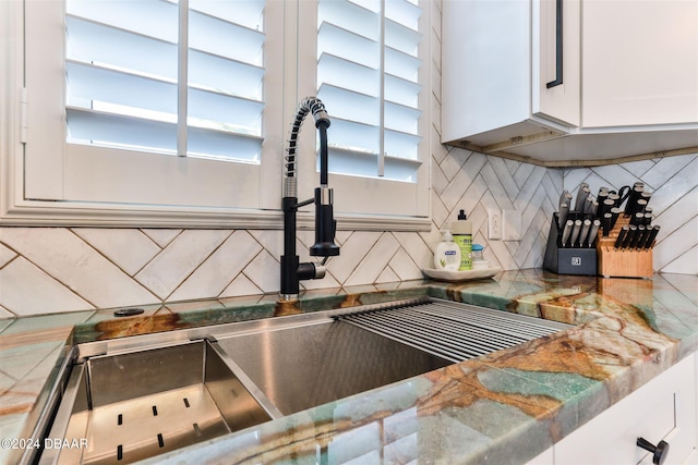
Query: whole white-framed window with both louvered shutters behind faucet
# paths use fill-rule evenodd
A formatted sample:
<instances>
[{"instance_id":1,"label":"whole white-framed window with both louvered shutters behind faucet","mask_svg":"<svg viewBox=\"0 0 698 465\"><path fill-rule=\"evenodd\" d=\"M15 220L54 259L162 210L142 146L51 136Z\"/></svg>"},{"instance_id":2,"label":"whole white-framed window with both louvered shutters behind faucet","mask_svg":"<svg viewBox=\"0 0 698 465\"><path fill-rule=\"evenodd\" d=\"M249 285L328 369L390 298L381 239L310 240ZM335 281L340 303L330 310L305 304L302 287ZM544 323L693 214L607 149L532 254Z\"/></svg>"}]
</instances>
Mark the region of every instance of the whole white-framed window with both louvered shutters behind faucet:
<instances>
[{"instance_id":1,"label":"whole white-framed window with both louvered shutters behind faucet","mask_svg":"<svg viewBox=\"0 0 698 465\"><path fill-rule=\"evenodd\" d=\"M278 228L290 122L317 95L339 228L429 229L425 4L0 2L0 222Z\"/></svg>"}]
</instances>

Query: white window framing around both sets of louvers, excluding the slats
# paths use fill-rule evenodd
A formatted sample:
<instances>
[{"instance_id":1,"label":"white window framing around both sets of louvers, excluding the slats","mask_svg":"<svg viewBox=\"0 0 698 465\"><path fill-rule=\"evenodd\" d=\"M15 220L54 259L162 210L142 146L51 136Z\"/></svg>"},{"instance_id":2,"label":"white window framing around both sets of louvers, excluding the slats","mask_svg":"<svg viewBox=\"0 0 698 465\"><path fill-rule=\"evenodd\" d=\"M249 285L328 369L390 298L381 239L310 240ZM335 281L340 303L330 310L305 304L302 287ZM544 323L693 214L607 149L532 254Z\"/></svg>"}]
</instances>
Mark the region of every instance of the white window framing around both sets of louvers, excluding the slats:
<instances>
[{"instance_id":1,"label":"white window framing around both sets of louvers, excluding the slats","mask_svg":"<svg viewBox=\"0 0 698 465\"><path fill-rule=\"evenodd\" d=\"M32 0L27 0L32 3ZM46 4L46 2L41 2ZM265 60L275 59L278 54L267 54L267 49L281 50L284 56L282 70L273 71L266 68L265 79L270 79L272 85L265 86L265 121L263 136L265 146L263 148L263 164L258 170L258 175L253 183L252 189L258 195L258 204L252 208L236 208L225 205L207 207L190 206L163 206L157 204L139 204L137 198L133 203L105 204L98 201L61 200L68 195L73 196L86 183L82 178L94 176L92 168L86 164L89 158L77 150L72 159L64 162L64 158L53 157L37 158L25 156L23 140L26 133L31 134L37 127L44 127L36 114L32 114L32 100L41 99L39 94L44 86L27 86L25 83L24 68L27 65L24 60L24 3L21 1L0 2L0 16L3 19L0 26L7 34L0 49L0 71L7 78L5 85L0 88L0 225L109 225L109 227L170 227L170 228L244 228L244 229L279 229L281 227L280 215L280 185L282 169L282 152L286 145L286 136L298 101L306 95L314 95L314 70L315 64L308 60L314 60L314 21L309 24L298 24L298 17L304 17L305 9L309 7L315 11L315 2L304 0L285 0L284 2L270 2L275 8L267 8L267 14L281 14L275 21L284 24L284 37L267 34L265 45ZM424 17L429 25L430 8L425 4ZM268 26L267 26L268 29ZM300 30L299 30L300 29ZM429 50L430 27L425 27L422 46ZM62 34L62 29L61 33ZM297 42L298 40L298 42ZM308 50L310 54L299 53L298 50L305 50L306 44L312 41L312 47ZM31 39L26 47L31 49ZM278 48L280 47L280 49ZM428 54L425 54L428 56ZM63 86L62 57L59 68L59 75L53 81ZM278 58L277 58L278 59ZM370 180L361 178L342 179L345 176L330 175L330 186L335 189L335 210L338 220L338 228L348 230L394 230L394 231L425 231L431 228L430 213L430 187L429 187L429 146L431 118L429 115L429 97L431 86L429 85L430 60L424 61L420 71L423 76L424 90L420 95L420 107L424 109L424 115L420 121L420 132L424 139L420 147L420 157L423 160L418 173L419 181L414 184L389 182L385 180ZM306 63L310 63L306 64ZM276 75L275 75L276 73ZM423 79L422 79L423 77ZM43 76L46 79L46 76ZM27 90L25 90L25 86ZM274 93L274 94L272 94ZM62 91L60 94L62 96ZM269 105L268 102L278 102ZM61 106L62 106L61 101ZM28 108L27 108L28 107ZM332 109L328 109L332 118ZM28 118L28 124L27 124ZM56 118L56 117L53 117ZM60 126L61 124L53 124ZM299 168L300 173L299 198L312 196L312 188L317 184L315 174L315 131L312 130L312 120L306 124L308 129L301 131L301 155ZM50 126L50 121L49 121ZM64 138L62 139L64 140ZM46 150L55 150L48 145ZM134 154L125 154L124 158ZM92 157L91 157L92 158ZM155 160L155 159L159 160ZM140 155L139 159L143 160ZM155 161L151 161L153 159ZM48 161L47 161L48 160ZM57 161L58 160L58 161ZM133 176L132 182L146 182L149 180L145 174L153 170L202 170L207 171L205 164L210 160L184 158L188 168L182 168L180 157L149 157L148 162L153 164L146 170L141 161L121 163L128 169L129 176ZM308 161L306 161L308 160ZM33 164L38 163L38 164ZM48 164L47 164L48 163ZM77 163L83 169L67 173L64 167L70 163ZM85 163L85 164L83 164ZM228 162L221 162L228 163ZM237 163L228 163L237 166ZM132 169L133 168L133 169ZM215 170L218 171L218 170ZM234 174L219 171L218 179L214 183L222 185L221 192L226 193L226 183L230 183L230 178ZM57 175L56 173L60 173ZM89 174L89 176L87 175ZM106 174L105 174L106 175ZM216 176L216 173L213 174ZM47 178L48 176L48 178ZM75 178L77 176L77 178ZM250 178L250 176L248 176ZM132 180L132 178L129 178ZM189 181L190 175L181 178L180 181ZM80 182L79 182L80 181ZM151 180L152 181L152 180ZM210 183L210 180L209 180ZM82 185L81 185L82 184ZM196 187L194 185L193 187ZM128 188L128 186L127 186ZM77 189L77 191L76 191ZM195 189L194 189L195 191ZM32 198L27 198L25 192L33 192ZM193 191L184 192L190 194ZM350 195L341 197L341 193L348 192ZM38 194L37 194L38 193ZM46 198L43 199L46 193ZM184 197L188 197L185 195ZM80 198L80 197L77 197ZM189 198L189 197L188 197ZM349 205L347 200L354 204ZM405 205L413 205L402 208ZM380 215L371 211L358 212L357 205L376 206L383 204L383 211ZM387 206L387 207L385 207ZM390 206L396 207L394 211ZM347 212L342 212L347 211ZM386 211L390 211L386 213ZM308 212L300 215L301 227L312 225L312 208Z\"/></svg>"}]
</instances>

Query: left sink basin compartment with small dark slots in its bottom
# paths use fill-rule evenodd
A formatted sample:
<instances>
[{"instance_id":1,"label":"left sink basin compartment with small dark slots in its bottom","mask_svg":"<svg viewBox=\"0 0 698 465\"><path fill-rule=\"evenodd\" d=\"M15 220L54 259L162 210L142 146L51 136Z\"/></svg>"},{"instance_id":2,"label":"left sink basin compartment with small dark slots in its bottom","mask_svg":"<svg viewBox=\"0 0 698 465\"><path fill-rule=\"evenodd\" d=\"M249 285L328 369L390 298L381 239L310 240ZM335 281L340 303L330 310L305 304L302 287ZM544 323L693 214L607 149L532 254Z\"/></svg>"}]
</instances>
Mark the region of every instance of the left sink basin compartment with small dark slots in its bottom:
<instances>
[{"instance_id":1,"label":"left sink basin compartment with small dark slots in its bottom","mask_svg":"<svg viewBox=\"0 0 698 465\"><path fill-rule=\"evenodd\" d=\"M274 416L208 341L92 356L73 367L49 435L86 446L40 463L136 462Z\"/></svg>"}]
</instances>

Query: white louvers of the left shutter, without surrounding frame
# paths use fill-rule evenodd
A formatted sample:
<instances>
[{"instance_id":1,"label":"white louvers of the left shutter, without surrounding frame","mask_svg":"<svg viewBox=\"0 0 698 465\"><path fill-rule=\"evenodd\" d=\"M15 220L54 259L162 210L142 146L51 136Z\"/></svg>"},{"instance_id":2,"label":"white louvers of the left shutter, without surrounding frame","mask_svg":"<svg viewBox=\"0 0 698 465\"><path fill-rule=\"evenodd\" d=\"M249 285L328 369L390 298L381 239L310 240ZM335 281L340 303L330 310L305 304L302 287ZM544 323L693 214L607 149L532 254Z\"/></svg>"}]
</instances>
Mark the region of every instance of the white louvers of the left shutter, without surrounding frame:
<instances>
[{"instance_id":1,"label":"white louvers of the left shutter, without surrounding frame","mask_svg":"<svg viewBox=\"0 0 698 465\"><path fill-rule=\"evenodd\" d=\"M68 142L258 162L263 11L264 0L68 0Z\"/></svg>"}]
</instances>

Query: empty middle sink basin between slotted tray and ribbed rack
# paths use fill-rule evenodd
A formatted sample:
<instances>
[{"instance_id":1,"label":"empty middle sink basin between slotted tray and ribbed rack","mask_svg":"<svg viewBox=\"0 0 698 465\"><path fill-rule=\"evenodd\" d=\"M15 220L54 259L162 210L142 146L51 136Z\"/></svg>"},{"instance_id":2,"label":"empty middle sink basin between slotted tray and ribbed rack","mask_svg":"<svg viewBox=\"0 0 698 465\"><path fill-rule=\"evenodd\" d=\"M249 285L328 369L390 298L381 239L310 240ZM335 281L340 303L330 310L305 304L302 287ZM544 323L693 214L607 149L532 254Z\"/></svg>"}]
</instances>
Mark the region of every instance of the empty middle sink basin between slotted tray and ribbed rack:
<instances>
[{"instance_id":1,"label":"empty middle sink basin between slotted tray and ribbed rack","mask_svg":"<svg viewBox=\"0 0 698 465\"><path fill-rule=\"evenodd\" d=\"M219 339L284 414L411 378L450 362L339 320Z\"/></svg>"}]
</instances>

